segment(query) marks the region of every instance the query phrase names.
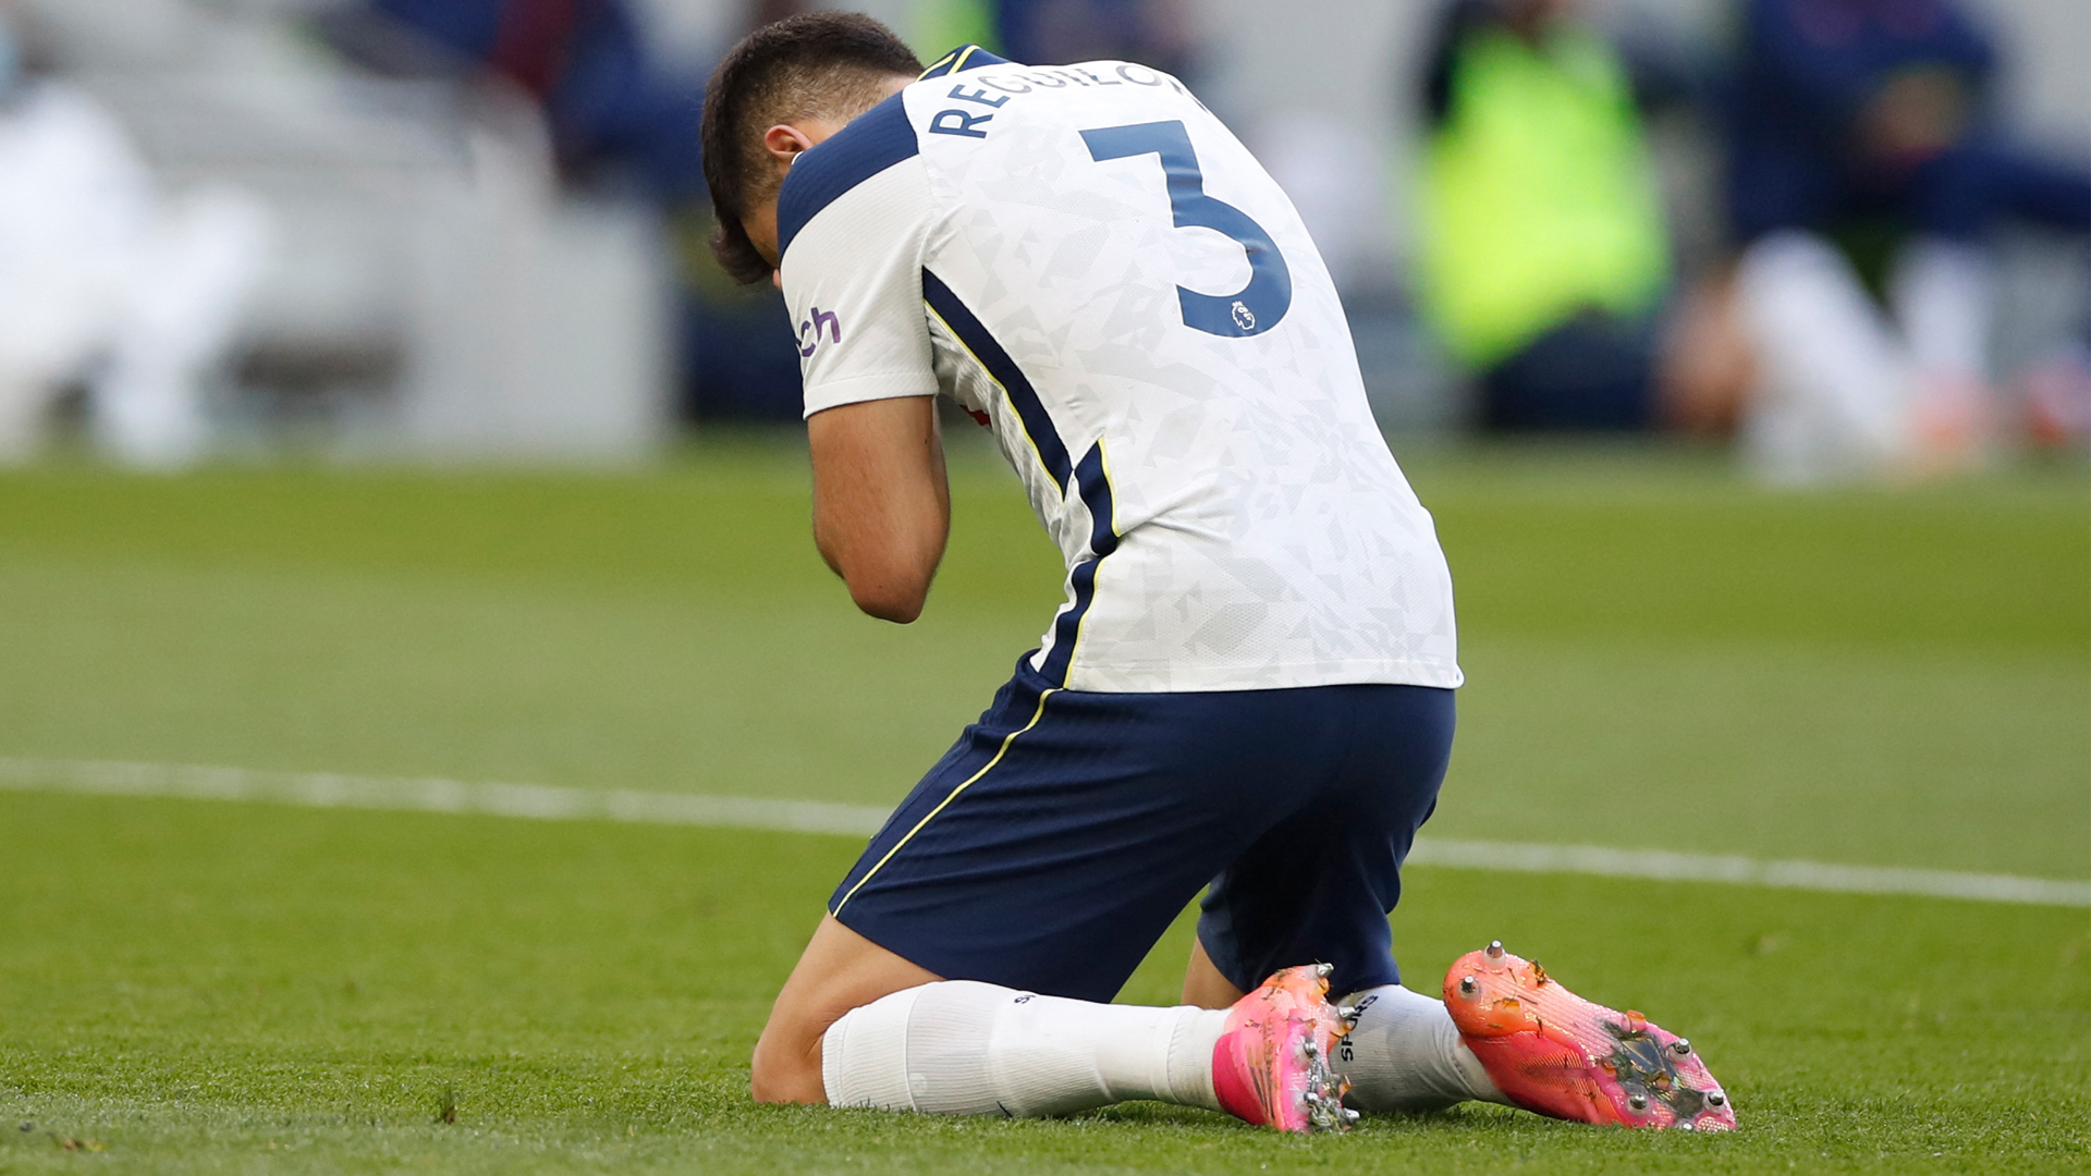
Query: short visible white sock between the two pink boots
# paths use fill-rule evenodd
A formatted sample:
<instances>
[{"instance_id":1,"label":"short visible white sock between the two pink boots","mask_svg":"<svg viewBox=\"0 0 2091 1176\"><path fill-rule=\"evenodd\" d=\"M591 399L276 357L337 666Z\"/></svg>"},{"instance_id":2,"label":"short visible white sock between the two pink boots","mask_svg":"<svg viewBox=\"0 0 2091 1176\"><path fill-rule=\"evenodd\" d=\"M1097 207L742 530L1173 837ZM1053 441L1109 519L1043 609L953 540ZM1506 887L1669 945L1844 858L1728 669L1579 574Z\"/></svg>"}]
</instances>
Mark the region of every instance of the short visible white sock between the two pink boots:
<instances>
[{"instance_id":1,"label":"short visible white sock between the two pink boots","mask_svg":"<svg viewBox=\"0 0 2091 1176\"><path fill-rule=\"evenodd\" d=\"M1336 1046L1336 1071L1351 1080L1345 1101L1359 1111L1437 1111L1468 1099L1510 1103L1460 1040L1443 1000L1382 983L1342 1002L1359 1015Z\"/></svg>"}]
</instances>

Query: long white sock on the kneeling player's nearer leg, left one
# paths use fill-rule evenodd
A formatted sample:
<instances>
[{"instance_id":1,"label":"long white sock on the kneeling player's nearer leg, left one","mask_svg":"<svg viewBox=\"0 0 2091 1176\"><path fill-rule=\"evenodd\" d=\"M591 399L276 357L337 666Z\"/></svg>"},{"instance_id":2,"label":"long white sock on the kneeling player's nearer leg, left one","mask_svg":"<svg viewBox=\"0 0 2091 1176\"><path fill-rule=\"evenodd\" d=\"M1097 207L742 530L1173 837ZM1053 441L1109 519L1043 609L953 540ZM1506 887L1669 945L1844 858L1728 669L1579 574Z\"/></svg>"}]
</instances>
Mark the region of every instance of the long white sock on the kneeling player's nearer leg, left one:
<instances>
[{"instance_id":1,"label":"long white sock on the kneeling player's nearer leg, left one","mask_svg":"<svg viewBox=\"0 0 2091 1176\"><path fill-rule=\"evenodd\" d=\"M1213 1046L1225 1019L943 979L830 1025L820 1078L834 1107L930 1115L1064 1115L1127 1099L1217 1111Z\"/></svg>"}]
</instances>

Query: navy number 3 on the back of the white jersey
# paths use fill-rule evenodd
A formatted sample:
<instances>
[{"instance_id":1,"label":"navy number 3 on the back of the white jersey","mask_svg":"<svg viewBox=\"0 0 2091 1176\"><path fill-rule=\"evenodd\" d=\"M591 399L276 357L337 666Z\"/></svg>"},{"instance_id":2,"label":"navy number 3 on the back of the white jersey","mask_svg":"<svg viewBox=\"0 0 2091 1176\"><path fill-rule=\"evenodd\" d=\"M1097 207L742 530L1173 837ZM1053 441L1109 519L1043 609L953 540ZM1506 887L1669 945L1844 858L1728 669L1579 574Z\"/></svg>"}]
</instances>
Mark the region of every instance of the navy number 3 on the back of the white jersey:
<instances>
[{"instance_id":1,"label":"navy number 3 on the back of the white jersey","mask_svg":"<svg viewBox=\"0 0 2091 1176\"><path fill-rule=\"evenodd\" d=\"M1292 308L1292 272L1278 253L1278 243L1246 211L1204 195L1204 172L1190 134L1181 121L1112 126L1081 132L1089 157L1129 159L1158 155L1169 180L1169 211L1177 228L1213 228L1225 232L1248 253L1248 285L1232 295L1202 295L1177 287L1184 303L1184 324L1207 335L1242 339L1263 335Z\"/></svg>"}]
</instances>

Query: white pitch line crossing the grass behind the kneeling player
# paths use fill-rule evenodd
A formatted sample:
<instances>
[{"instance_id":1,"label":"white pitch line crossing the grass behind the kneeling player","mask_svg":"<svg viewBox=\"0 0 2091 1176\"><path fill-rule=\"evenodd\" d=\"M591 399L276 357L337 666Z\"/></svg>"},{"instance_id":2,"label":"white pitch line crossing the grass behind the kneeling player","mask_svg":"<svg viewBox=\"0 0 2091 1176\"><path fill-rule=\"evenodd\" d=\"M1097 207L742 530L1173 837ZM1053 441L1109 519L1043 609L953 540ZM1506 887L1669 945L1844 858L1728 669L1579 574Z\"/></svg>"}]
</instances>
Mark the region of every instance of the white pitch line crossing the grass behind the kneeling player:
<instances>
[{"instance_id":1,"label":"white pitch line crossing the grass behind the kneeling player","mask_svg":"<svg viewBox=\"0 0 2091 1176\"><path fill-rule=\"evenodd\" d=\"M700 824L855 837L870 837L887 820L887 810L882 808L807 799L713 797L631 789L558 789L544 785L468 785L441 778L255 772L247 768L105 760L19 760L4 755L0 755L0 791L232 799L387 812L460 812L531 820L625 820L636 824ZM1529 845L1518 841L1418 837L1416 847L1409 852L1409 862L1474 870L1706 881L2035 906L2091 906L2091 881L1894 866L1838 866L1828 862L1765 862L1756 858L1671 854L1662 850L1606 850L1600 845Z\"/></svg>"}]
</instances>

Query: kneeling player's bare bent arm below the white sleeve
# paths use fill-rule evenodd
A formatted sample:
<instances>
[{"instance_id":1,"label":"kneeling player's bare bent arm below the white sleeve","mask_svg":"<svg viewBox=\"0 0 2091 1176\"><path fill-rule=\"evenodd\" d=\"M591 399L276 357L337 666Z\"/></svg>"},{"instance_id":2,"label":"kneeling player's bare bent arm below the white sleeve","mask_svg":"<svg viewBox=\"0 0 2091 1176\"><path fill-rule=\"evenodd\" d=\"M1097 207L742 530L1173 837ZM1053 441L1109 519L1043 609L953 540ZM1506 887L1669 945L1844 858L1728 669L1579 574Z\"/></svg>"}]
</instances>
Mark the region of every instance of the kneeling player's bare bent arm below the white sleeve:
<instances>
[{"instance_id":1,"label":"kneeling player's bare bent arm below the white sleeve","mask_svg":"<svg viewBox=\"0 0 2091 1176\"><path fill-rule=\"evenodd\" d=\"M866 613L922 615L951 532L937 402L864 400L811 414L813 544Z\"/></svg>"}]
</instances>

